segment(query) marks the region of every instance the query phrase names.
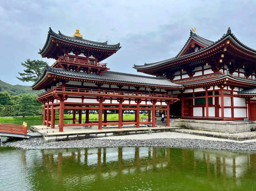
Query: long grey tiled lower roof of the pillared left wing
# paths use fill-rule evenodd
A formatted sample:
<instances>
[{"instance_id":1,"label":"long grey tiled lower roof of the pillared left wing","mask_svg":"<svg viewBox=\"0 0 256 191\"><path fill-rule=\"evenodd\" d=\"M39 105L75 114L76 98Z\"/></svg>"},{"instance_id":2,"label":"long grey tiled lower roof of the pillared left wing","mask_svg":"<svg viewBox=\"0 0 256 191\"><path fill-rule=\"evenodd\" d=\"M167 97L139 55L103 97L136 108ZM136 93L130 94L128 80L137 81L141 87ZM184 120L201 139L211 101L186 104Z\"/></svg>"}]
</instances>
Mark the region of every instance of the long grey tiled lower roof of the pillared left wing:
<instances>
[{"instance_id":1,"label":"long grey tiled lower roof of the pillared left wing","mask_svg":"<svg viewBox=\"0 0 256 191\"><path fill-rule=\"evenodd\" d=\"M61 76L68 76L74 78L101 80L101 81L113 81L113 82L123 82L123 83L134 83L134 84L144 84L151 86L163 86L163 87L183 87L182 85L172 83L166 79L166 77L150 77L122 72L106 71L103 74L87 73L87 72L76 72L72 70L66 70L61 68L47 67L42 75L42 77L37 80L32 87L35 87L39 81L41 81L46 73L59 74Z\"/></svg>"}]
</instances>

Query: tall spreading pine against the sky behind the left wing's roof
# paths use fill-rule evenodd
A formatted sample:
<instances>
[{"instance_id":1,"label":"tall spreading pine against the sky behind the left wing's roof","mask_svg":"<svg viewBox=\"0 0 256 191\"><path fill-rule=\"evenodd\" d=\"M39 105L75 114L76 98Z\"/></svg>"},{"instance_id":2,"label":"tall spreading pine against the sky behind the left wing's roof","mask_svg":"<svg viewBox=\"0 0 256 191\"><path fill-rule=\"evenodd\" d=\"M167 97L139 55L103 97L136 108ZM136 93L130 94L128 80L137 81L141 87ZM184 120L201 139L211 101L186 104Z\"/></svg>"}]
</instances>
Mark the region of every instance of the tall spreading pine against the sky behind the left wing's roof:
<instances>
[{"instance_id":1,"label":"tall spreading pine against the sky behind the left wing's roof","mask_svg":"<svg viewBox=\"0 0 256 191\"><path fill-rule=\"evenodd\" d=\"M47 62L43 60L30 60L27 59L24 63L21 62L21 65L26 69L24 73L18 72L21 78L17 77L20 81L23 82L36 82L43 74Z\"/></svg>"}]
</instances>

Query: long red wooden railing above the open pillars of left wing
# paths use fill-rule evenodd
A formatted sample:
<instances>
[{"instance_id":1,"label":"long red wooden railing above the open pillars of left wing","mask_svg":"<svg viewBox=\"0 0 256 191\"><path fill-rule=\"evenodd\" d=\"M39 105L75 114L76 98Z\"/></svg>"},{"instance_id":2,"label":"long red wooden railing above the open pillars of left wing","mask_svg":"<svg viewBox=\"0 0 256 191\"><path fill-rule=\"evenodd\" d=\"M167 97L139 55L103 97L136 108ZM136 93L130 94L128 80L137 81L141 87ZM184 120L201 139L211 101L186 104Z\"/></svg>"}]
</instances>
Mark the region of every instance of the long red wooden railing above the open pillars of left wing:
<instances>
[{"instance_id":1,"label":"long red wooden railing above the open pillars of left wing","mask_svg":"<svg viewBox=\"0 0 256 191\"><path fill-rule=\"evenodd\" d=\"M98 90L98 89L85 89L85 88L68 88L68 87L56 87L39 94L38 98L46 96L52 92L61 93L82 93L82 94L100 94L103 96L123 96L123 97L145 97L145 98L177 98L177 95L169 94L156 94L156 93L137 93L137 92L126 92L126 91L112 91L112 90Z\"/></svg>"}]
</instances>

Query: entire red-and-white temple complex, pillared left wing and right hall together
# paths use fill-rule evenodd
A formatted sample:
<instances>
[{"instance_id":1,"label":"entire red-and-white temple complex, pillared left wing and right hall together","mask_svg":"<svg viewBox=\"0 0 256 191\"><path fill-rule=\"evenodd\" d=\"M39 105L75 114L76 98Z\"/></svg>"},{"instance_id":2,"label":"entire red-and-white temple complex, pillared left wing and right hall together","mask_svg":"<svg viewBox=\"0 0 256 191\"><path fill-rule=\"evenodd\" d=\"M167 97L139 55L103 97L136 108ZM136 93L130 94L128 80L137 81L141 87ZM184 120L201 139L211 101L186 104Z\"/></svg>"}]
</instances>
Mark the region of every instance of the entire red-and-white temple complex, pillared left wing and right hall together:
<instances>
[{"instance_id":1,"label":"entire red-and-white temple complex, pillared left wing and right hall together","mask_svg":"<svg viewBox=\"0 0 256 191\"><path fill-rule=\"evenodd\" d=\"M65 126L150 124L156 126L156 111L170 118L215 121L256 119L256 50L240 42L231 29L217 41L190 31L177 56L144 65L134 65L142 76L111 71L103 60L121 48L120 43L86 40L79 33L73 37L60 31L48 31L39 54L56 61L47 67L33 90L45 89L38 96L44 103L44 125L59 131ZM60 117L55 119L55 111ZM73 110L72 124L64 124L64 110ZM86 111L85 122L82 110ZM98 121L89 121L89 110L98 111ZM107 110L118 113L118 121L107 121ZM135 111L135 120L123 120L123 111ZM139 111L152 112L146 122ZM76 111L79 118L76 119ZM244 131L244 130L243 130ZM235 132L235 131L233 131Z\"/></svg>"}]
</instances>

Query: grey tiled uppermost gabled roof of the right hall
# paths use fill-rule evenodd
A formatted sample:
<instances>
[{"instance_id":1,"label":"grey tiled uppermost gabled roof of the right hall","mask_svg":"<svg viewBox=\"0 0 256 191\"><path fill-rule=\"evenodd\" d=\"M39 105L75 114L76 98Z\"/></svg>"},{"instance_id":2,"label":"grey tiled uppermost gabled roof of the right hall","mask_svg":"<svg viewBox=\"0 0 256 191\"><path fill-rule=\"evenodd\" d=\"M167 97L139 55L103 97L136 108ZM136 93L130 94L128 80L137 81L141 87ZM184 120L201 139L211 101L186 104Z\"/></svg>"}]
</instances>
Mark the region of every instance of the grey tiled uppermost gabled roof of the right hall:
<instances>
[{"instance_id":1,"label":"grey tiled uppermost gabled roof of the right hall","mask_svg":"<svg viewBox=\"0 0 256 191\"><path fill-rule=\"evenodd\" d=\"M192 32L192 31L191 31L191 32ZM242 47L244 47L244 48L246 48L246 49L248 49L248 50L253 51L253 52L256 53L256 50L255 50L255 49L252 49L252 48L246 46L245 44L243 44L241 41L239 41L239 40L237 39L237 37L236 37L233 33L231 33L230 27L228 28L227 33L226 33L226 34L223 34L223 36L222 36L219 40L217 40L217 41L215 41L215 42L210 41L210 40L207 40L207 39L204 39L204 38L202 38L202 37L200 37L200 36L198 36L198 35L196 35L196 34L190 34L190 35L191 35L191 36L188 38L187 42L188 42L191 38L193 38L194 40L197 39L196 41L198 41L198 42L204 44L206 47L205 47L205 48L202 48L202 49L200 49L200 50L198 50L198 51L196 51L196 52L192 52L192 53L190 53L190 54L186 54L186 55L184 55L184 56L179 56L179 57L178 57L178 55L180 54L180 52L182 52L182 50L185 48L185 46L186 46L186 44L187 44L187 42L186 42L185 45L183 46L183 48L180 50L180 52L177 54L176 57L173 57L173 58L170 58L170 59L167 59L167 60L163 60L163 61L159 61L159 62L154 62L154 63L145 63L144 65L135 65L135 64L134 64L133 68L135 68L135 69L141 69L141 70L143 70L143 69L149 69L149 68L153 68L153 67L160 66L160 65L162 65L162 64L166 64L166 63L169 63L169 62L173 62L173 61L176 61L176 60L180 60L180 59L189 57L189 56L191 56L191 55L193 55L193 54L197 54L198 52L204 51L204 50L206 50L206 49L208 49L208 48L214 46L215 44L219 43L222 39L224 39L224 38L226 38L226 37L228 37L228 36L232 37L232 38L233 38L237 43L239 43Z\"/></svg>"}]
</instances>

